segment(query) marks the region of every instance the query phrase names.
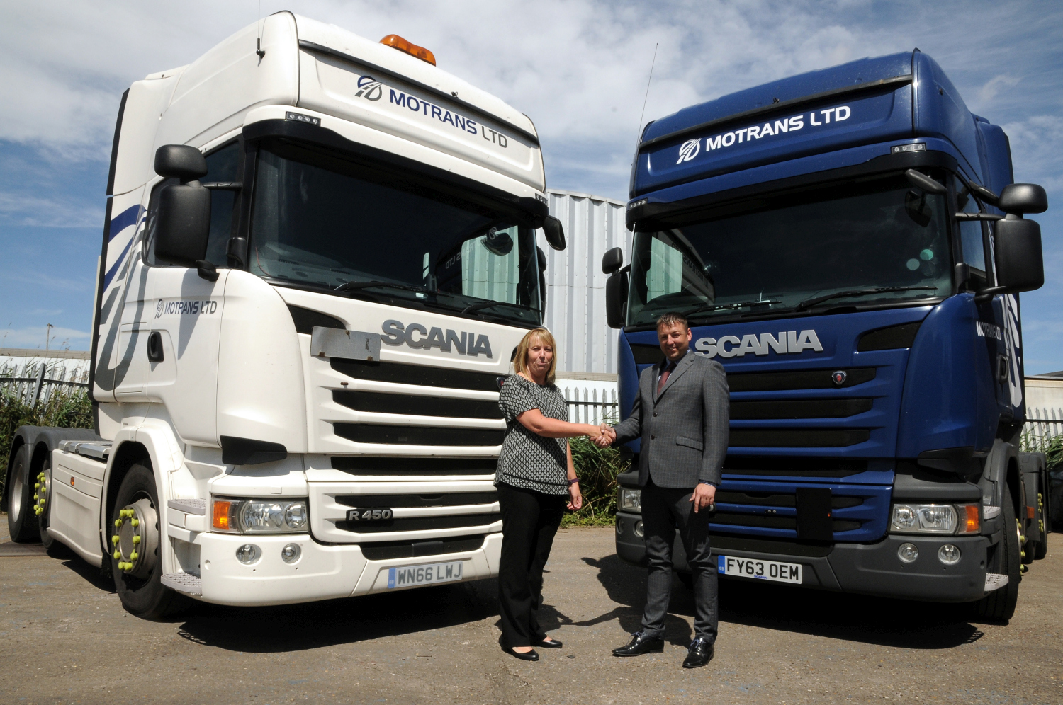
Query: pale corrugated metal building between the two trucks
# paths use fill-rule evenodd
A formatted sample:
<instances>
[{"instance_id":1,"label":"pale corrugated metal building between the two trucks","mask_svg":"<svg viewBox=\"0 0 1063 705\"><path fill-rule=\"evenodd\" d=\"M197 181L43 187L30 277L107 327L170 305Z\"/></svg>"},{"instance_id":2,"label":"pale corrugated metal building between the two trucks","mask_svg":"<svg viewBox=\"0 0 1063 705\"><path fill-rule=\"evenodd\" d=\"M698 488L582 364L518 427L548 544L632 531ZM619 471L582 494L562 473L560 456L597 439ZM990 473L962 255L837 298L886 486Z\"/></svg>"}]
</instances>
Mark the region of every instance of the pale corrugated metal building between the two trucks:
<instances>
[{"instance_id":1,"label":"pale corrugated metal building between the two trucks","mask_svg":"<svg viewBox=\"0 0 1063 705\"><path fill-rule=\"evenodd\" d=\"M545 326L557 340L558 378L598 382L615 389L618 331L605 322L605 280L602 255L612 247L630 259L631 234L624 224L625 204L612 199L549 190L550 212L564 225L568 246L546 253ZM602 384L604 382L605 384Z\"/></svg>"}]
</instances>

